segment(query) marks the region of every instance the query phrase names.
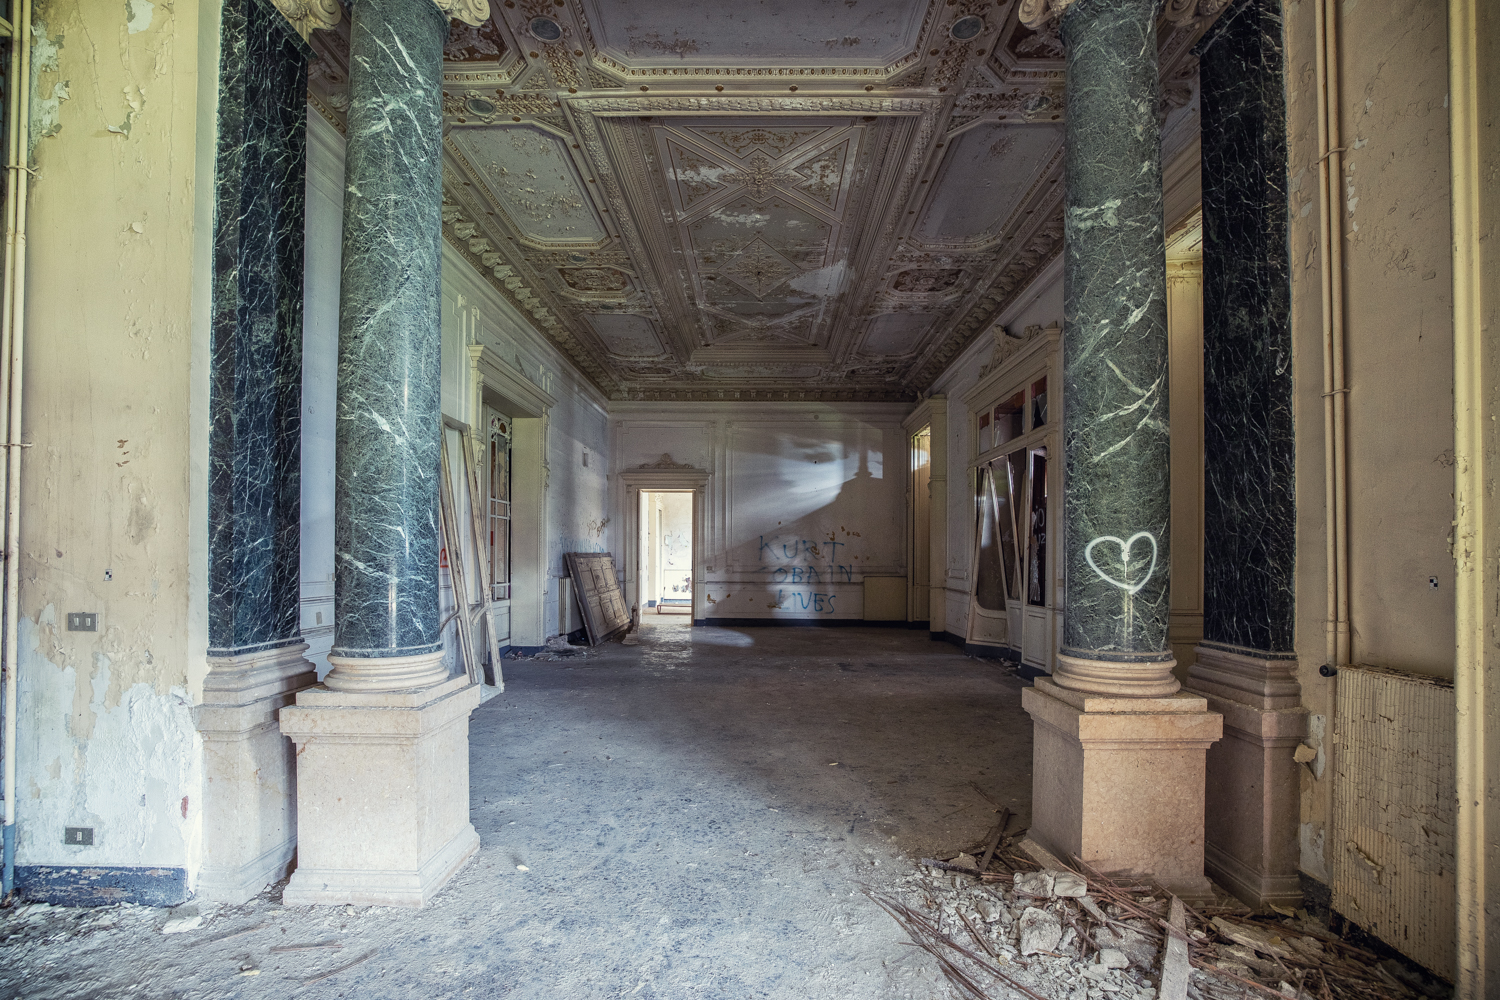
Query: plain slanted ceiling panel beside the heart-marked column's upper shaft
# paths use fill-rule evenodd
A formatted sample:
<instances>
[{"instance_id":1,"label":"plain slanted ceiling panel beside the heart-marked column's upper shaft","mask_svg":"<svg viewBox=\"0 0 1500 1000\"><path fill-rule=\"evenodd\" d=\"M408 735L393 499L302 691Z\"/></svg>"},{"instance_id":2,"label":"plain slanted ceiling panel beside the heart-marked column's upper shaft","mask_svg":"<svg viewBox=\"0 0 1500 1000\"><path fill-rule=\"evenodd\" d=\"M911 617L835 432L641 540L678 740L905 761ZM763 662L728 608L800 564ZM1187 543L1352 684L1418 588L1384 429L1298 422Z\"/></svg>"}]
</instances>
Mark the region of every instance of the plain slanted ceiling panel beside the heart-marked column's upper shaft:
<instances>
[{"instance_id":1,"label":"plain slanted ceiling panel beside the heart-marked column's upper shaft","mask_svg":"<svg viewBox=\"0 0 1500 1000\"><path fill-rule=\"evenodd\" d=\"M1062 154L1062 126L980 124L948 145L915 237L924 249L992 246Z\"/></svg>"}]
</instances>

